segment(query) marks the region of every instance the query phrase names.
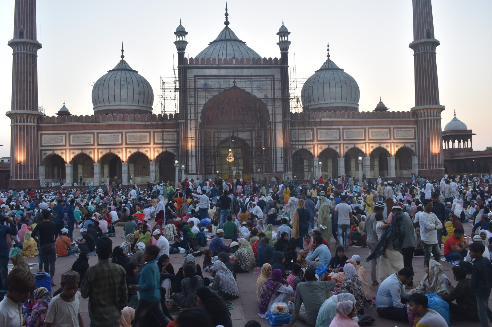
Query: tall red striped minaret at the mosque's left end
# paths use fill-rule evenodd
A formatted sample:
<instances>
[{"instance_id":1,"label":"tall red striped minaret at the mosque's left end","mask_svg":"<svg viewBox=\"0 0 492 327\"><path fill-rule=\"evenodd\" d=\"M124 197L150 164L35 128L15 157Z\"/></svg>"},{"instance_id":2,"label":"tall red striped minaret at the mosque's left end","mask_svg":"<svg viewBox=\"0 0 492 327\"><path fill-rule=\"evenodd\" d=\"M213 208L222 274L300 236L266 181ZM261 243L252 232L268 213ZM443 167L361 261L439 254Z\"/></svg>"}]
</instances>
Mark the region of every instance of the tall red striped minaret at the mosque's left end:
<instances>
[{"instance_id":1,"label":"tall red striped minaret at the mosque's left end","mask_svg":"<svg viewBox=\"0 0 492 327\"><path fill-rule=\"evenodd\" d=\"M10 118L10 187L39 186L37 122L43 113L37 99L36 0L15 0L12 109Z\"/></svg>"}]
</instances>

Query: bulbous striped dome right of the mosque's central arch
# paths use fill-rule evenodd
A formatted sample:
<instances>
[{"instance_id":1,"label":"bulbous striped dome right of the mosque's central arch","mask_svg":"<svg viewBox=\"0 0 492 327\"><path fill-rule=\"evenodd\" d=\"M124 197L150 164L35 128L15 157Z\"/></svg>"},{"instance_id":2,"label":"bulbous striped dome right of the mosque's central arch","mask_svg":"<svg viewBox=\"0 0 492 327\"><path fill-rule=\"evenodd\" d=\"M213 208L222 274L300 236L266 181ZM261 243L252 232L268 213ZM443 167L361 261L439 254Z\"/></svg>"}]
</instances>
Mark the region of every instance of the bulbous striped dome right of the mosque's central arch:
<instances>
[{"instance_id":1,"label":"bulbous striped dome right of the mosque's central arch","mask_svg":"<svg viewBox=\"0 0 492 327\"><path fill-rule=\"evenodd\" d=\"M359 85L330 59L307 79L301 97L307 111L359 110Z\"/></svg>"}]
</instances>

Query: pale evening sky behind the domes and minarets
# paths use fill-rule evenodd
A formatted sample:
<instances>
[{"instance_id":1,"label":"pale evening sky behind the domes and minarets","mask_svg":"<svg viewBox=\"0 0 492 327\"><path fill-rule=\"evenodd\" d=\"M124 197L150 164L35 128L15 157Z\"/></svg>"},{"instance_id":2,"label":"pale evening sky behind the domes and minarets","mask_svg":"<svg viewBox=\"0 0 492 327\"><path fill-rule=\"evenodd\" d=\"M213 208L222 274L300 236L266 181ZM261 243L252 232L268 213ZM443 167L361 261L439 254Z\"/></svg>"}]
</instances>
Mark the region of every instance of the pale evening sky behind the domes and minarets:
<instances>
[{"instance_id":1,"label":"pale evening sky behind the domes and minarets","mask_svg":"<svg viewBox=\"0 0 492 327\"><path fill-rule=\"evenodd\" d=\"M39 105L54 115L65 101L72 114L92 114L92 84L125 60L154 89L158 107L159 76L173 76L177 62L173 32L180 19L195 56L224 27L224 1L37 0ZM310 0L245 2L229 0L231 29L263 57L279 57L278 28L291 32L290 76L306 79L331 59L355 78L360 111L373 110L379 97L390 110L415 106L412 1ZM492 98L492 1L432 1L442 126L457 117L473 137L473 148L492 146L487 139ZM0 107L11 108L14 1L0 1ZM294 66L295 62L295 66ZM301 87L301 85L299 85ZM0 115L6 131L10 120ZM0 157L8 157L10 133L0 141Z\"/></svg>"}]
</instances>

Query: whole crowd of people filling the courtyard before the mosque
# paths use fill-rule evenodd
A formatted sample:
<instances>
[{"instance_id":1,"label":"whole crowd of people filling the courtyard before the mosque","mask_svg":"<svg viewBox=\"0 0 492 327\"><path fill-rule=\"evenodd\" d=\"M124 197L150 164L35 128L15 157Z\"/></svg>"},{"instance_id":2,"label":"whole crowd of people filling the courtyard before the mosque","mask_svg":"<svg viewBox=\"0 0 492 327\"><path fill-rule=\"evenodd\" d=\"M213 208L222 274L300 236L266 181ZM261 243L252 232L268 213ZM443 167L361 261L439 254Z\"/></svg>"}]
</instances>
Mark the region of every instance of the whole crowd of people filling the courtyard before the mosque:
<instances>
[{"instance_id":1,"label":"whole crowd of people filling the courtyard before the mosque","mask_svg":"<svg viewBox=\"0 0 492 327\"><path fill-rule=\"evenodd\" d=\"M366 314L371 306L384 319L408 322L413 316L416 326L447 326L429 308L431 293L449 303L452 320L489 326L490 183L489 175L412 176L401 183L355 183L350 176L302 183L294 176L272 185L197 177L143 189L4 190L0 276L8 293L0 302L0 326L84 326L84 298L95 327L198 321L231 327L227 303L240 297L241 274L254 267L260 270L258 319L272 315L274 303L290 303L283 327L296 320L358 326L373 321ZM473 227L465 236L466 223ZM124 240L114 246L117 230ZM354 247L367 247L370 255L348 255ZM98 263L90 266L95 254ZM177 254L184 260L175 271L170 256ZM35 286L24 258L36 256L53 294ZM56 289L56 261L69 256L78 258ZM424 257L426 272L416 286L414 256ZM454 265L456 285L441 257ZM371 282L379 285L375 297ZM171 305L187 310L174 320Z\"/></svg>"}]
</instances>

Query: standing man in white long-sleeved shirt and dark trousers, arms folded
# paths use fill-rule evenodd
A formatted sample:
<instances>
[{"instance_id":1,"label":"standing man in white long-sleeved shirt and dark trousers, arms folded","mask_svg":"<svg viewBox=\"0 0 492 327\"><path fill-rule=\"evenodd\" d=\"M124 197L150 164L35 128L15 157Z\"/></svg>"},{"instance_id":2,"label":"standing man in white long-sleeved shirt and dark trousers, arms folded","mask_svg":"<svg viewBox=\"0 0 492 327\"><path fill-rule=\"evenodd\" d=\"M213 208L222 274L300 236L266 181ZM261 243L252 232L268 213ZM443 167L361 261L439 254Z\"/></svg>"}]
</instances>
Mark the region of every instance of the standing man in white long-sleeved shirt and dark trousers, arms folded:
<instances>
[{"instance_id":1,"label":"standing man in white long-sleeved shirt and dark trousers, arms folded","mask_svg":"<svg viewBox=\"0 0 492 327\"><path fill-rule=\"evenodd\" d=\"M442 230L442 223L437 216L431 211L432 200L424 200L424 212L420 214L420 238L424 244L424 264L429 265L431 252L434 260L441 260L441 249L437 242L437 230Z\"/></svg>"}]
</instances>

